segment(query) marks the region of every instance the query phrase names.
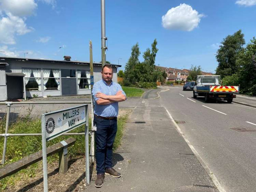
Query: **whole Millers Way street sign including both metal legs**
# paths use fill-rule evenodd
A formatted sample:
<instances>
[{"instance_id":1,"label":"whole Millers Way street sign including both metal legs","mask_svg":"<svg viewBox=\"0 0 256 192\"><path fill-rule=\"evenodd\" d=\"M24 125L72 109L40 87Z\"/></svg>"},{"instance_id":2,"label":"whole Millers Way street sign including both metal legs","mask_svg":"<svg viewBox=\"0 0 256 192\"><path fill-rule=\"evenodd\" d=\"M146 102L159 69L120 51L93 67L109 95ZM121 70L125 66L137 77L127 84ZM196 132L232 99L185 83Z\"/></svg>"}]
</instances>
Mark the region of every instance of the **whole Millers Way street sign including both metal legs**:
<instances>
[{"instance_id":1,"label":"whole Millers Way street sign including both metal legs","mask_svg":"<svg viewBox=\"0 0 256 192\"><path fill-rule=\"evenodd\" d=\"M88 104L59 111L44 113L41 116L42 152L44 170L44 192L48 191L46 142L85 124L86 184L89 184L89 130ZM65 143L62 143L65 147Z\"/></svg>"}]
</instances>

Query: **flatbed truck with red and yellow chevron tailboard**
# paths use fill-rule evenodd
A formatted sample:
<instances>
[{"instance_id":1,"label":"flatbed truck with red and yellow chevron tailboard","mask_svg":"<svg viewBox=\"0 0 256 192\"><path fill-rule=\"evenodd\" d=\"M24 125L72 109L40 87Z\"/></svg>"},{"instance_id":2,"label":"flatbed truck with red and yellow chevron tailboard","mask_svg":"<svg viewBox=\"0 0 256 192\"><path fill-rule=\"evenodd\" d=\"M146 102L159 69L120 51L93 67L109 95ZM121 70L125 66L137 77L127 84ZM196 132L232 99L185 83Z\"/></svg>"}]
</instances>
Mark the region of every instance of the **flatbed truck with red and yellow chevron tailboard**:
<instances>
[{"instance_id":1,"label":"flatbed truck with red and yellow chevron tailboard","mask_svg":"<svg viewBox=\"0 0 256 192\"><path fill-rule=\"evenodd\" d=\"M236 98L239 86L221 86L220 75L199 75L194 86L193 98L204 97L205 102L212 100L225 100L228 103Z\"/></svg>"}]
</instances>

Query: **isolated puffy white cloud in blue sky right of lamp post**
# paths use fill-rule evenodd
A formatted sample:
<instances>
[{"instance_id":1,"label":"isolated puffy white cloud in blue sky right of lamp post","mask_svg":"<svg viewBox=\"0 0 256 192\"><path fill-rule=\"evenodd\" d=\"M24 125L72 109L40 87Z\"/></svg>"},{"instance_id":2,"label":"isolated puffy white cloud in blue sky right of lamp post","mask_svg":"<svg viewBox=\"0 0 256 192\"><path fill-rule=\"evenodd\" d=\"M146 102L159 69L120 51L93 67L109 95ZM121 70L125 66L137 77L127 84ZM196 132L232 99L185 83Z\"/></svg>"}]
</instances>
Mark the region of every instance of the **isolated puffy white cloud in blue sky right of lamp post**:
<instances>
[{"instance_id":1,"label":"isolated puffy white cloud in blue sky right of lamp post","mask_svg":"<svg viewBox=\"0 0 256 192\"><path fill-rule=\"evenodd\" d=\"M162 16L162 26L166 29L192 31L198 27L200 18L203 16L190 5L182 3L177 7L172 7Z\"/></svg>"}]
</instances>

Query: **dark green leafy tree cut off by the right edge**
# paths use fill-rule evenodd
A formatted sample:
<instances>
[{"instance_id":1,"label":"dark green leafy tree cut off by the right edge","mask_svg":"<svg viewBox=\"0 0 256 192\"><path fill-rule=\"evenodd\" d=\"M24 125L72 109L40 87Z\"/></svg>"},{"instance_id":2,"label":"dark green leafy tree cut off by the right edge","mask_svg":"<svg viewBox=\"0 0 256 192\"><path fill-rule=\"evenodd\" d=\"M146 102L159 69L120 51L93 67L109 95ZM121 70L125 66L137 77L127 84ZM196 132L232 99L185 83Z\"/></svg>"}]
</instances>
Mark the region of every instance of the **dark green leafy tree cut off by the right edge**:
<instances>
[{"instance_id":1,"label":"dark green leafy tree cut off by the right edge","mask_svg":"<svg viewBox=\"0 0 256 192\"><path fill-rule=\"evenodd\" d=\"M256 95L256 39L253 37L245 49L241 50L236 60L239 68L240 90Z\"/></svg>"}]
</instances>

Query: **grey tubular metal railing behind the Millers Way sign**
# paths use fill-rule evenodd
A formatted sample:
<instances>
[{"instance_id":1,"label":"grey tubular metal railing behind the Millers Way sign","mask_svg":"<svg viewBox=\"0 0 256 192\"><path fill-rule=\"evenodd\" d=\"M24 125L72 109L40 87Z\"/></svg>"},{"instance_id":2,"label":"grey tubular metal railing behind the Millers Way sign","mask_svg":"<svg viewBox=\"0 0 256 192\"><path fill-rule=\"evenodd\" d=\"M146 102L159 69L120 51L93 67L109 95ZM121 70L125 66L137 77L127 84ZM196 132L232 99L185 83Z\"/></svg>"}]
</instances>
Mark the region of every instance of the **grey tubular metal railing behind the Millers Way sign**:
<instances>
[{"instance_id":1,"label":"grey tubular metal railing behind the Millers Way sign","mask_svg":"<svg viewBox=\"0 0 256 192\"><path fill-rule=\"evenodd\" d=\"M17 134L10 134L8 133L9 129L9 117L10 117L10 110L13 104L91 104L90 101L23 101L23 102L0 102L0 104L7 105L7 112L6 112L6 124L5 124L5 133L0 134L0 136L4 137L4 149L3 149L3 158L1 164L5 162L5 154L6 154L6 147L7 147L7 138L10 136L41 136L42 133L17 133ZM91 134L91 131L89 134ZM64 135L85 135L85 133L65 133Z\"/></svg>"}]
</instances>

